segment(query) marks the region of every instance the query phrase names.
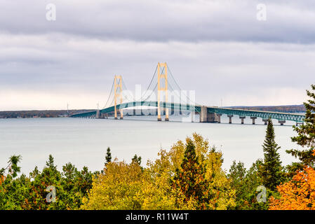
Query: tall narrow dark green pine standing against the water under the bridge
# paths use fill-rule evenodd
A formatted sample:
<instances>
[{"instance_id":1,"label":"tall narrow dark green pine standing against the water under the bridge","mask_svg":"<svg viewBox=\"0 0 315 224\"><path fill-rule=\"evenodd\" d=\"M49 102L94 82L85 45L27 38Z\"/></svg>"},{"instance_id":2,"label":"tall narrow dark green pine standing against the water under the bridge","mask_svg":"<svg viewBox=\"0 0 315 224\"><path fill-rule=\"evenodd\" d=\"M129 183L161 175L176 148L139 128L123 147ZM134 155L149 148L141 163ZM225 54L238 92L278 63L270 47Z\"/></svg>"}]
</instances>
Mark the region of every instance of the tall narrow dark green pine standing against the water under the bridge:
<instances>
[{"instance_id":1,"label":"tall narrow dark green pine standing against the water under the bridge","mask_svg":"<svg viewBox=\"0 0 315 224\"><path fill-rule=\"evenodd\" d=\"M283 167L281 166L279 146L274 140L274 125L272 119L268 119L266 137L262 149L264 151L264 162L260 168L262 183L270 190L276 190L281 181L283 181Z\"/></svg>"}]
</instances>

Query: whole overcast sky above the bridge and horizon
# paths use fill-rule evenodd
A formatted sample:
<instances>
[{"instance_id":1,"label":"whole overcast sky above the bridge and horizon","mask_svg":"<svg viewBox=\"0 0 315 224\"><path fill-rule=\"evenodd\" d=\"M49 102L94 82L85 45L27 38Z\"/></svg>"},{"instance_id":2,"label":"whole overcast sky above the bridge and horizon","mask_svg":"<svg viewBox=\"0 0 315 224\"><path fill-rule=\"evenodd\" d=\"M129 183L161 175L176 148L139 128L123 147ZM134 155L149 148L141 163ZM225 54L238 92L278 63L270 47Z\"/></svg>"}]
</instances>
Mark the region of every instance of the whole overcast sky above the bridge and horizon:
<instances>
[{"instance_id":1,"label":"whole overcast sky above the bridge and horizon","mask_svg":"<svg viewBox=\"0 0 315 224\"><path fill-rule=\"evenodd\" d=\"M146 88L158 62L199 104L302 104L314 27L313 0L0 0L0 110L94 109L115 74Z\"/></svg>"}]
</instances>

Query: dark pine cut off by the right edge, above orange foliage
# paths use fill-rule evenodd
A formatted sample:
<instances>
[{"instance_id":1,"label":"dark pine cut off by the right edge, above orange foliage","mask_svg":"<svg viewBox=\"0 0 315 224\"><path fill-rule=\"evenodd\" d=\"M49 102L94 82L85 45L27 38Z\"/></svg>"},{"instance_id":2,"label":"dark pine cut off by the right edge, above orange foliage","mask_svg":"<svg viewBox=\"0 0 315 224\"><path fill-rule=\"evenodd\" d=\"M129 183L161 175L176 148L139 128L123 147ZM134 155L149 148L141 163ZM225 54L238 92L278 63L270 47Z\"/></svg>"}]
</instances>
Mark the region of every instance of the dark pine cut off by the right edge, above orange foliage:
<instances>
[{"instance_id":1,"label":"dark pine cut off by the right edge, above orange foliage","mask_svg":"<svg viewBox=\"0 0 315 224\"><path fill-rule=\"evenodd\" d=\"M307 96L311 99L304 102L306 109L304 123L300 127L293 126L295 132L297 132L297 137L291 138L293 142L306 149L302 151L297 149L286 151L300 160L300 162L293 162L292 165L288 166L291 174L304 166L315 167L315 156L312 155L315 149L315 85L311 85L311 90L313 91L307 90Z\"/></svg>"}]
</instances>

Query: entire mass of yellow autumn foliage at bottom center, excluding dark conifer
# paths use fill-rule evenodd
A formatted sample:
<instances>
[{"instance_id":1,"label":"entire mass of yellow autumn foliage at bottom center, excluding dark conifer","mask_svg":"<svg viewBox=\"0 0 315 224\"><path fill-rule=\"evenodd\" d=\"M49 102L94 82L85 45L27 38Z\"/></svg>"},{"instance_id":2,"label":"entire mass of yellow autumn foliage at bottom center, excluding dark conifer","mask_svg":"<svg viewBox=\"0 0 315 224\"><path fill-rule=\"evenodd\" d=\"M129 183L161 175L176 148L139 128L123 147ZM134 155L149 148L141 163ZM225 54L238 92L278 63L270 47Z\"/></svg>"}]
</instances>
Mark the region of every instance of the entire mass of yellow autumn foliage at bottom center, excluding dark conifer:
<instances>
[{"instance_id":1,"label":"entire mass of yellow autumn foliage at bottom center, excluding dark conifer","mask_svg":"<svg viewBox=\"0 0 315 224\"><path fill-rule=\"evenodd\" d=\"M212 197L202 206L199 200L183 194L172 184L176 170L182 172L186 145L177 141L170 151L161 150L159 158L147 162L142 169L138 162L108 162L104 172L93 179L93 187L83 199L81 209L227 209L234 206L235 190L222 170L222 153L210 149L199 134L186 139L191 142L206 183L202 193ZM192 166L194 167L194 165ZM193 195L191 195L193 196ZM202 196L201 196L202 197Z\"/></svg>"}]
</instances>

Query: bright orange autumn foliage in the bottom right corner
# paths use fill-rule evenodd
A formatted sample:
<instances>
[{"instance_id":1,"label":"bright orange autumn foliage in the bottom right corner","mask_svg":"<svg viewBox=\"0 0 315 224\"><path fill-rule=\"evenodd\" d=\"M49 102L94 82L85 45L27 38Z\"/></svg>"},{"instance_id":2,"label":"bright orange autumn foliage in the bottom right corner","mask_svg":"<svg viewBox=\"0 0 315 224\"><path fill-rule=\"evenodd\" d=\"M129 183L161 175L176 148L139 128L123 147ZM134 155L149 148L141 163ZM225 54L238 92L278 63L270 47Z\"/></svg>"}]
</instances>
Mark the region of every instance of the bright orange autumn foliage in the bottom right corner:
<instances>
[{"instance_id":1,"label":"bright orange autumn foliage in the bottom right corner","mask_svg":"<svg viewBox=\"0 0 315 224\"><path fill-rule=\"evenodd\" d=\"M315 154L315 152L314 152ZM280 199L271 197L269 210L315 210L315 170L304 167L288 183L277 186Z\"/></svg>"}]
</instances>

